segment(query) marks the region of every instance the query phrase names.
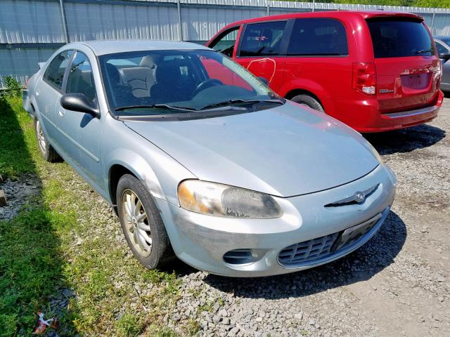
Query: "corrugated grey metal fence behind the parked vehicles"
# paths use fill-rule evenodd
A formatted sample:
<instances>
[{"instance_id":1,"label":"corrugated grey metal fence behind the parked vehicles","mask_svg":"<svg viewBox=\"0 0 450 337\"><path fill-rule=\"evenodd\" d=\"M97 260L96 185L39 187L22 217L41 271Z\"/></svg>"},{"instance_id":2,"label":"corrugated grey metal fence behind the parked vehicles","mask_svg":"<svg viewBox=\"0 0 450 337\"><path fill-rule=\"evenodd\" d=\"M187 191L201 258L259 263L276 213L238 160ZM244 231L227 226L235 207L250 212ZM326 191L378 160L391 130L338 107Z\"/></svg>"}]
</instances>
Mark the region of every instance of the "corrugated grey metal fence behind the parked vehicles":
<instances>
[{"instance_id":1,"label":"corrugated grey metal fence behind the parked vehicles","mask_svg":"<svg viewBox=\"0 0 450 337\"><path fill-rule=\"evenodd\" d=\"M59 46L91 39L207 41L246 18L307 11L408 11L433 34L450 34L450 10L267 0L1 0L0 88L3 76L22 84Z\"/></svg>"}]
</instances>

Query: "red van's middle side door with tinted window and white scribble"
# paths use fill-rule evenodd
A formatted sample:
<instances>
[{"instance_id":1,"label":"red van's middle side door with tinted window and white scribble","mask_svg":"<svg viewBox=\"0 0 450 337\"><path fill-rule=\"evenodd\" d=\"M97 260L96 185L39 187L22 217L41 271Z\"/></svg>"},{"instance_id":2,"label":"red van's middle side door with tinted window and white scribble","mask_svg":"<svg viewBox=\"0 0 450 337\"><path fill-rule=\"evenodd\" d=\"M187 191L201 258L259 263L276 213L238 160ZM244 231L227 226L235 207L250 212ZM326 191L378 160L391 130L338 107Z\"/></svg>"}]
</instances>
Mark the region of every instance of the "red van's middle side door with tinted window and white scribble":
<instances>
[{"instance_id":1,"label":"red van's middle side door with tinted window and white scribble","mask_svg":"<svg viewBox=\"0 0 450 337\"><path fill-rule=\"evenodd\" d=\"M287 25L287 20L245 25L236 53L236 61L257 77L264 77L274 91L283 84Z\"/></svg>"}]
</instances>

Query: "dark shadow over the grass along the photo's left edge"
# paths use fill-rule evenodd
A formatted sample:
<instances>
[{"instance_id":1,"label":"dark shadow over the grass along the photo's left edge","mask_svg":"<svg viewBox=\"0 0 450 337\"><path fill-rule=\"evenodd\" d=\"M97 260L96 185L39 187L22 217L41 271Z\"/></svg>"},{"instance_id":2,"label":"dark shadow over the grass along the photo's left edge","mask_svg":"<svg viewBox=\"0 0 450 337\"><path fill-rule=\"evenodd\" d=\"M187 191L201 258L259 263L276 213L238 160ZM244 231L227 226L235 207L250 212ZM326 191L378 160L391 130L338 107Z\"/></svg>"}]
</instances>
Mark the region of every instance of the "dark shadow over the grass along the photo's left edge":
<instances>
[{"instance_id":1,"label":"dark shadow over the grass along the photo's left edge","mask_svg":"<svg viewBox=\"0 0 450 337\"><path fill-rule=\"evenodd\" d=\"M64 219L43 204L41 181L27 147L27 140L33 142L30 117L21 106L20 98L0 97L0 173L8 175L4 188L9 204L0 213L0 336L32 336L38 311L44 319L58 318L60 336L75 336L68 312L74 293L63 277L65 261L56 234ZM25 133L20 124L27 125ZM24 186L32 186L32 197L18 197ZM26 203L19 198L27 198Z\"/></svg>"}]
</instances>

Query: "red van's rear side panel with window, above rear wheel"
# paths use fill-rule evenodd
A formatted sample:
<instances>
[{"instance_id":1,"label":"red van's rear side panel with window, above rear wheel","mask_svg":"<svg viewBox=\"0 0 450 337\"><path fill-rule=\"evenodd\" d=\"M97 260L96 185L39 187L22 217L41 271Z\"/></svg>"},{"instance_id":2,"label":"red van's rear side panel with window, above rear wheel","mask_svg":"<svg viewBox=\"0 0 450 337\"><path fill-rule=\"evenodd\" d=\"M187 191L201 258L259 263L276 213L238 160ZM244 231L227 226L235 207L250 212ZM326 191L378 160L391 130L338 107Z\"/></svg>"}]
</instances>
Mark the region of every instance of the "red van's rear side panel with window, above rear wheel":
<instances>
[{"instance_id":1,"label":"red van's rear side panel with window, above rear wheel","mask_svg":"<svg viewBox=\"0 0 450 337\"><path fill-rule=\"evenodd\" d=\"M349 30L351 32L351 30ZM284 81L321 99L321 103L352 100L353 44L349 43L344 22L334 18L297 18L290 34ZM351 36L351 35L350 35ZM329 107L329 105L328 105ZM324 106L326 113L332 109Z\"/></svg>"}]
</instances>

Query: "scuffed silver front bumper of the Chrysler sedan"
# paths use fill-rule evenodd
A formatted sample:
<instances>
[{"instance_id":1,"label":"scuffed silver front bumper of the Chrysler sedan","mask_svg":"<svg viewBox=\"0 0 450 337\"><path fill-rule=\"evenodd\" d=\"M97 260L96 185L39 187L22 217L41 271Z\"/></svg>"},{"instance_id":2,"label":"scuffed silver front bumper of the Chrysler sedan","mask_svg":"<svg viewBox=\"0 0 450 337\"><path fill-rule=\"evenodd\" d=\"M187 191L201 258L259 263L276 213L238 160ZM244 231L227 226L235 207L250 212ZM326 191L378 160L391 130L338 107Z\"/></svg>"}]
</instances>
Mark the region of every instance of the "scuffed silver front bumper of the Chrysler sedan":
<instances>
[{"instance_id":1,"label":"scuffed silver front bumper of the Chrysler sedan","mask_svg":"<svg viewBox=\"0 0 450 337\"><path fill-rule=\"evenodd\" d=\"M362 204L325 207L377 184L378 188ZM375 234L389 213L395 184L392 171L380 164L363 178L340 187L298 197L275 197L284 211L276 219L220 218L186 211L160 199L157 204L176 256L188 265L217 275L260 277L322 265L359 248ZM278 253L290 245L342 232L379 213L382 217L371 231L346 249L300 267L283 267L278 263ZM226 263L224 254L235 249L251 249L255 262Z\"/></svg>"}]
</instances>

